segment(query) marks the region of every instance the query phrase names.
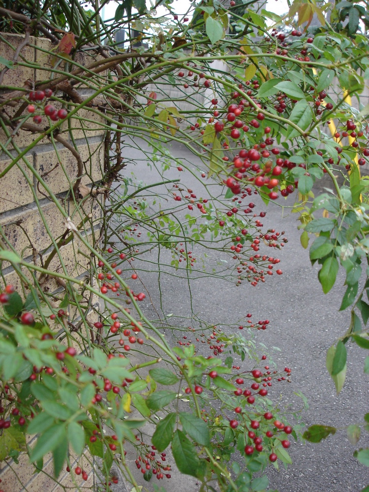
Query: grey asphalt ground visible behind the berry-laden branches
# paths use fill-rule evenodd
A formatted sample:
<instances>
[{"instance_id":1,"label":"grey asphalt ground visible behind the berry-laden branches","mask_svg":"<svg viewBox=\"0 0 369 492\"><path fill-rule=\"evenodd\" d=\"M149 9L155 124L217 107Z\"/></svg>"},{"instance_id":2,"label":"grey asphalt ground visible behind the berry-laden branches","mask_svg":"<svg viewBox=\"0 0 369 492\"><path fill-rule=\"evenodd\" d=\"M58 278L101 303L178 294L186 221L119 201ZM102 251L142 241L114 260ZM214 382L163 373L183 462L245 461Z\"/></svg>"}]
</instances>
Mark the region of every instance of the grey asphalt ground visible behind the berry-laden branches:
<instances>
[{"instance_id":1,"label":"grey asphalt ground visible behind the berry-laden branches","mask_svg":"<svg viewBox=\"0 0 369 492\"><path fill-rule=\"evenodd\" d=\"M146 144L136 140L133 145L136 148L127 146L124 152L129 163L123 176L129 178L133 171L146 184L159 182L160 174L155 167L160 165L157 162L153 165L150 155L146 153ZM194 191L199 190L198 196L205 198L200 182L211 184L211 179L204 180L199 176L197 166L204 168L201 161L184 147L173 147L172 153L183 159L189 170L180 173L173 167L165 173L165 177L181 178L181 183ZM325 180L316 186L313 190L315 195L324 191L323 186L329 185ZM157 189L160 190L160 187ZM301 231L297 229L297 214L292 214L289 208L278 206L292 205L292 198L287 202L279 199L268 207L256 195L252 201L256 204L255 213L267 212L263 219L264 229L273 227L277 231L284 230L288 238L283 249L277 253L273 251L273 255L280 258L278 267L282 269L283 275L273 275L256 287L247 282L236 287L227 281L208 276L195 278L191 281L190 299L186 278L181 278L170 267L162 268L159 288L156 256L149 252L143 260L135 261L135 268L150 293L155 309L149 296L141 303L141 307L149 318L151 315L152 319L160 317L163 321L169 316L168 321L175 319L176 323L186 326L188 320L185 318L191 317L191 301L194 313L210 324L224 324L225 331L229 330L225 325L245 317L247 312L252 313L252 319L255 320L269 319L268 329L257 332L256 342L270 348L280 368L288 366L292 369L292 382L274 385L270 394L277 400L281 394L282 402L290 405L291 412L297 412L304 405L296 393L302 392L307 398L308 409L301 412L300 418L306 426L324 424L338 429L335 435L319 444L292 442L289 453L293 464L286 470L281 466L279 471L268 467L269 488L280 492L359 492L369 484L369 470L353 458L353 452L358 447L369 446L368 432L363 429L359 443L354 447L347 439L346 427L362 423L364 414L368 412L369 376L363 371L367 354L356 345L348 344L346 381L339 395L325 367L328 348L349 326L349 311L338 311L345 291L344 272L339 271L336 285L324 295L317 279L318 266L311 266L308 251L300 244ZM157 206L158 203L153 207ZM217 252L205 252L205 269L216 268L222 257ZM266 251L266 254L271 252ZM200 258L201 252L196 251L196 256ZM147 259L151 263L144 261ZM170 263L170 259L169 251L161 253L164 263ZM173 318L172 315L184 318ZM166 335L171 339L169 331ZM271 347L278 347L280 351L273 351ZM153 490L152 485L142 483ZM160 485L168 492L199 490L192 478L184 476L160 482ZM130 488L127 490L130 491Z\"/></svg>"}]
</instances>

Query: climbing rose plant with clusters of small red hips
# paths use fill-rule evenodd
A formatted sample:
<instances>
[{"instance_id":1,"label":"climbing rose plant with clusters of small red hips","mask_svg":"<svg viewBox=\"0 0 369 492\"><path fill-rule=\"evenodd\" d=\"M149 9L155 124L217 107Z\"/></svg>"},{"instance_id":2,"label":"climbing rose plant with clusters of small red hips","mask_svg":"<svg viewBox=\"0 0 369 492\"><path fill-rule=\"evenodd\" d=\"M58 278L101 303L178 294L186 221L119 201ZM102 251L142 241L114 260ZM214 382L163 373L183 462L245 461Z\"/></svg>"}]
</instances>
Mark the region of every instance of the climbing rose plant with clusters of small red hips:
<instances>
[{"instance_id":1,"label":"climbing rose plant with clusters of small red hips","mask_svg":"<svg viewBox=\"0 0 369 492\"><path fill-rule=\"evenodd\" d=\"M28 248L18 250L0 229L0 459L28 453L42 472L51 453L55 480L66 470L78 490L91 469L99 490L122 478L140 490L141 473L170 490L174 466L202 491L265 490L266 467L291 463L291 441L319 442L336 429L313 425L302 434L296 416L288 421L288 402L273 390L291 382L291 370L277 368L259 345L273 320L254 321L262 314L249 312L228 326L201 319L191 280L212 276L241 289L282 275L278 251L288 239L264 228L263 218L292 195L323 292L339 268L346 273L340 309L351 310L351 323L327 353L340 392L346 345L369 348L369 184L361 175L369 110L360 105L369 75L367 12L358 2L332 9L295 0L278 16L249 1L208 0L192 2L183 15L164 1L164 15L125 0L115 3L114 19L103 20L98 2L13 3L0 6L1 41L10 43L0 81L15 67L46 73L28 85L1 86L0 147L10 163L0 177L17 169L28 180L50 242L37 252L29 238L40 259L33 263ZM128 36L123 46L117 28ZM21 49L8 32L25 35ZM50 40L43 56L51 66L22 56L31 35ZM98 179L73 145L76 122L87 133L89 124L103 130ZM15 138L25 131L33 136L26 152ZM27 154L45 137L65 176L57 143L76 160L78 175L63 200ZM174 143L196 160L172 153ZM136 170L127 155L136 155ZM314 196L324 175L329 189ZM34 180L64 221L60 236L47 225ZM93 212L86 214L88 203ZM69 243L76 264L81 251L88 259L87 276L68 273L62 247ZM209 251L219 257L213 269ZM10 265L13 283L5 275ZM157 274L158 300L142 280L145 269ZM164 315L163 275L188 282L189 316ZM147 302L156 320L141 307ZM351 443L368 430L369 414L364 420L350 424ZM367 466L368 456L368 449L355 452Z\"/></svg>"}]
</instances>

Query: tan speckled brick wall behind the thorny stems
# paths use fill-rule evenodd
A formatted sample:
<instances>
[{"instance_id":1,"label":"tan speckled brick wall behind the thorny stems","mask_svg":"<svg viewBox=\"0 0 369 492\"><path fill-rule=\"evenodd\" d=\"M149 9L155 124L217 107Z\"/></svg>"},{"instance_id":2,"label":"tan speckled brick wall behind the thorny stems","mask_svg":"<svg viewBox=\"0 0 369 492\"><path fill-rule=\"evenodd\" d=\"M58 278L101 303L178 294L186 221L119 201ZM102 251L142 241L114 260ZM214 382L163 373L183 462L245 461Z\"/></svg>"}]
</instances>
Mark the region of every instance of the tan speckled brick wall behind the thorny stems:
<instances>
[{"instance_id":1,"label":"tan speckled brick wall behind the thorny stems","mask_svg":"<svg viewBox=\"0 0 369 492\"><path fill-rule=\"evenodd\" d=\"M0 56L6 59L12 59L13 49L22 42L22 36L14 34L3 34L6 42L0 42ZM53 48L51 42L47 39L35 39L31 37L31 46L26 46L21 51L20 60L25 62L38 62L43 64L45 70L35 70L29 67L16 67L8 70L4 76L3 84L12 87L23 87L27 79L31 81L47 80L50 78L50 72L47 70L52 66L52 57L38 51L36 47L50 50ZM32 46L33 45L33 46ZM86 64L93 61L90 56L77 55L76 62ZM60 69L62 65L59 66ZM3 66L0 64L0 71ZM86 88L85 88L86 93ZM62 93L58 94L62 95ZM57 103L53 103L55 107ZM8 115L11 117L19 109L8 108ZM45 119L46 120L46 119ZM92 122L86 120L93 120ZM31 121L31 120L30 120ZM46 121L45 121L46 123ZM103 119L96 117L88 109L83 109L78 112L76 118L71 119L70 126L73 128L73 139L78 153L83 161L83 176L82 184L88 186L92 182L98 182L101 179L103 167L103 136L104 129L99 125L103 123ZM43 123L41 127L45 126ZM71 135L68 132L68 123L65 122L60 127L59 134L69 144L74 145ZM14 143L21 151L26 149L34 141L37 134L29 131L19 130L14 136ZM0 142L5 144L7 137L4 132L0 131ZM11 143L8 143L7 150L13 156L16 151ZM61 143L55 142L55 148L50 139L44 138L38 145L31 149L26 154L26 158L31 166L43 177L45 183L50 187L53 193L58 195L59 203L65 213L72 217L76 226L81 223L81 220L86 215L91 215L91 218L81 229L83 236L92 244L93 236L99 235L99 221L101 210L96 200L88 198L84 201L83 207L76 207L73 201L68 199L68 190L70 184L74 184L77 179L77 160L76 157L65 148ZM0 152L0 172L3 171L12 159L9 155ZM20 169L21 168L21 169ZM26 177L33 185L34 193L42 209L45 217L46 225L41 220L37 204L34 199L34 194L22 170L25 171ZM0 227L4 231L6 240L16 249L17 253L26 259L27 262L34 262L41 265L47 261L50 252L53 250L52 241L47 232L49 228L51 235L58 241L66 231L64 217L58 210L58 207L47 196L46 190L42 186L37 187L31 170L29 170L24 161L19 161L19 166L14 165L12 169L1 179L3 192L0 197ZM68 196L67 196L68 195ZM66 237L69 237L69 234ZM66 267L67 274L72 277L80 277L86 274L89 270L89 258L79 254L78 250L89 255L88 248L81 244L76 238L73 238L65 246L61 246L60 252L62 260ZM42 261L41 261L42 258ZM61 261L58 255L55 255L50 262L49 269L56 272L62 271ZM27 279L31 279L31 274L28 269L22 267L22 273ZM2 263L2 275L6 284L13 284L18 292L27 295L27 287L22 284L22 280L12 269L9 263ZM37 277L39 274L37 274ZM0 288L3 287L3 281L0 278ZM54 278L47 279L43 287L48 292L58 290L58 296L61 298L63 293L60 292L61 286ZM95 305L98 300L93 298L92 304ZM69 308L70 319L74 322L78 320L79 312L74 307ZM97 320L97 315L91 311L89 320L94 322ZM34 439L34 438L33 438ZM71 454L71 460L73 459ZM91 460L91 456L89 457ZM78 486L88 488L93 485L92 467L87 459L82 459L84 469L89 473L87 482L82 480L81 476L75 476ZM75 462L72 464L76 466ZM33 474L34 468L28 462L28 456L21 454L19 463L10 461L8 464L0 463L0 489L4 492L20 492L27 490L29 492L61 492L63 489L56 484L51 476L53 475L53 462L51 456L45 457L43 472ZM18 476L18 478L17 478ZM68 490L75 490L70 473L65 469L59 477L59 482Z\"/></svg>"}]
</instances>

